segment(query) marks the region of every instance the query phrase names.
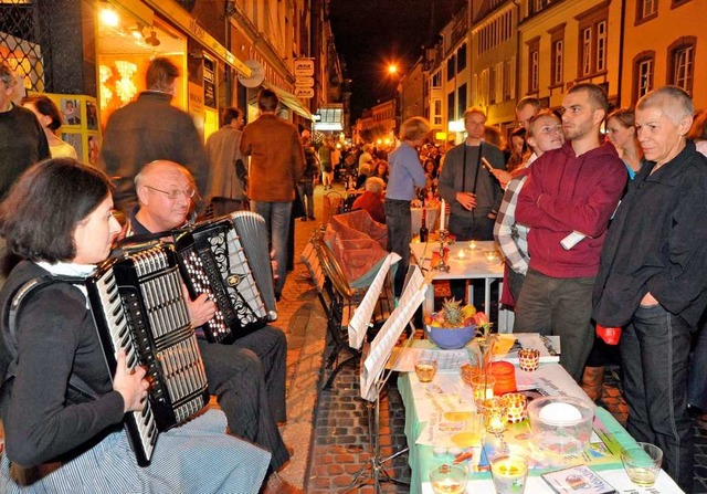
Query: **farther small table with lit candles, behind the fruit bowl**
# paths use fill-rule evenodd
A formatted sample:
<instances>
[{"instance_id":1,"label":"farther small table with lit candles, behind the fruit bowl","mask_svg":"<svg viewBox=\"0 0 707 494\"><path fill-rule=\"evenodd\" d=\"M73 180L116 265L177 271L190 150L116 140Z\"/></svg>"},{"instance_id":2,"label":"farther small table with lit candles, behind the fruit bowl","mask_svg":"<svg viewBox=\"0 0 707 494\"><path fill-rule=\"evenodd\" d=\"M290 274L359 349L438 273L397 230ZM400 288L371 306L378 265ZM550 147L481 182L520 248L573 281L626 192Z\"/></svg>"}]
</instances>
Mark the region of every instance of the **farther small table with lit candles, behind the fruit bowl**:
<instances>
[{"instance_id":1,"label":"farther small table with lit candles, behind the fruit bowl","mask_svg":"<svg viewBox=\"0 0 707 494\"><path fill-rule=\"evenodd\" d=\"M475 249L469 249L471 242L455 242L452 245L445 245L450 249L450 255L447 264L450 266L449 272L434 271L434 280L484 280L484 303L486 307L490 307L490 285L498 281L503 283L504 277L504 261L500 254L488 261L486 253L496 252L496 243L494 241L474 241ZM432 253L440 251L439 242L413 242L410 244L410 251L412 252L412 261L416 263L423 271L430 269L430 261L432 260ZM463 259L460 257L460 252L464 252ZM468 299L472 297L473 286L469 285ZM502 287L498 288L500 295ZM431 314L434 312L434 287L432 284L425 292L425 299L422 303L422 312L424 314ZM497 328L499 333L510 333L513 327L513 313L510 311L499 309Z\"/></svg>"}]
</instances>

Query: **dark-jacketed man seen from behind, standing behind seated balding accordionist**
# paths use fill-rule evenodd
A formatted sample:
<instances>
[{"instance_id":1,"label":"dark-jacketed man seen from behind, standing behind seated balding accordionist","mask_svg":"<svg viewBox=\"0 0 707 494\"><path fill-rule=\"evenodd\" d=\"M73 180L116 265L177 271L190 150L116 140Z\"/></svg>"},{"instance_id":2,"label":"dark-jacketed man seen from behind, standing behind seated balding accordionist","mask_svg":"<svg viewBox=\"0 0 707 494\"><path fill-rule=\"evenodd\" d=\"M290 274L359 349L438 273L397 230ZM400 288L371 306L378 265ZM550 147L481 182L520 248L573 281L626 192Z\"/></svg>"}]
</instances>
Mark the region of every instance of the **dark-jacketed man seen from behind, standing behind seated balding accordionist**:
<instances>
[{"instance_id":1,"label":"dark-jacketed man seen from behind, standing behind seated balding accordionist","mask_svg":"<svg viewBox=\"0 0 707 494\"><path fill-rule=\"evenodd\" d=\"M168 59L152 60L145 74L147 91L108 118L98 162L114 177L116 209L126 214L137 204L135 176L146 162L166 159L182 164L205 195L209 156L189 114L170 102L179 67ZM117 178L115 178L117 177Z\"/></svg>"}]
</instances>

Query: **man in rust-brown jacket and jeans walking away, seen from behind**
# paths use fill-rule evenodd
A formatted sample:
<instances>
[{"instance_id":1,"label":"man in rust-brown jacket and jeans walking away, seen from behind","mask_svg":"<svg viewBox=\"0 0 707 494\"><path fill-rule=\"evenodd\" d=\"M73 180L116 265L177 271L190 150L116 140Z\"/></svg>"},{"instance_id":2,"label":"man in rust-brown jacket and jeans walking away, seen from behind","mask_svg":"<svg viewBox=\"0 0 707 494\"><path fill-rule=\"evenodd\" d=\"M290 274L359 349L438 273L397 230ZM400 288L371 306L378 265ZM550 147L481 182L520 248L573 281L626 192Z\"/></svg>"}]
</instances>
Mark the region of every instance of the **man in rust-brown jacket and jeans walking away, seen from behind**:
<instances>
[{"instance_id":1,"label":"man in rust-brown jacket and jeans walking away, seen from behind","mask_svg":"<svg viewBox=\"0 0 707 494\"><path fill-rule=\"evenodd\" d=\"M295 187L304 174L305 155L297 127L276 115L277 95L261 90L260 117L245 126L241 153L251 157L251 210L265 218L277 262L275 295L279 296L287 275L287 237Z\"/></svg>"}]
</instances>

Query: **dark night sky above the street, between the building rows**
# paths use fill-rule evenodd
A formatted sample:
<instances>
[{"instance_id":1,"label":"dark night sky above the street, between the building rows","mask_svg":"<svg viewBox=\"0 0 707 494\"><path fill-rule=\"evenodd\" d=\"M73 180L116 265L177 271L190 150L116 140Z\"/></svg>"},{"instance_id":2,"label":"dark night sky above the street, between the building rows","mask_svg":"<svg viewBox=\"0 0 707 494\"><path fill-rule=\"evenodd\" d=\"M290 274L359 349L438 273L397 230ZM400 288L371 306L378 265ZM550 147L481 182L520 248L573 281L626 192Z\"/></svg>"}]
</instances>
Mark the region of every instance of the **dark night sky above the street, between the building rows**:
<instances>
[{"instance_id":1,"label":"dark night sky above the street, between the building rows","mask_svg":"<svg viewBox=\"0 0 707 494\"><path fill-rule=\"evenodd\" d=\"M422 54L422 45L436 36L465 1L330 1L336 49L346 63L346 76L352 80L352 120L393 96L398 78L388 74L389 63L394 62L399 74L404 74Z\"/></svg>"}]
</instances>

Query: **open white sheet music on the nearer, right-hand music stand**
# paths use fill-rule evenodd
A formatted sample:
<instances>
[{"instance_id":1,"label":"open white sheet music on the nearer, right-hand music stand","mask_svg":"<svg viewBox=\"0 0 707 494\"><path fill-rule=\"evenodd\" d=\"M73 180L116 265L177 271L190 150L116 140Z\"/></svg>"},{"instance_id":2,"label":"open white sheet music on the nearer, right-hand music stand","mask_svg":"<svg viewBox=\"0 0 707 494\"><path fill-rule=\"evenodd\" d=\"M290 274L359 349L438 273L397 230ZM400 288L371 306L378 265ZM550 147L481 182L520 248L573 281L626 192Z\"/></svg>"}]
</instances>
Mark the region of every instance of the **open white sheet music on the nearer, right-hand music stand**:
<instances>
[{"instance_id":1,"label":"open white sheet music on the nearer, right-hand music stand","mask_svg":"<svg viewBox=\"0 0 707 494\"><path fill-rule=\"evenodd\" d=\"M404 327L412 319L413 314L424 299L424 292L428 285L420 267L412 266L412 276L400 297L398 307L376 335L371 343L370 353L366 357L363 366L361 366L361 398L366 400L369 400L371 386L383 371L386 361L390 357Z\"/></svg>"}]
</instances>

